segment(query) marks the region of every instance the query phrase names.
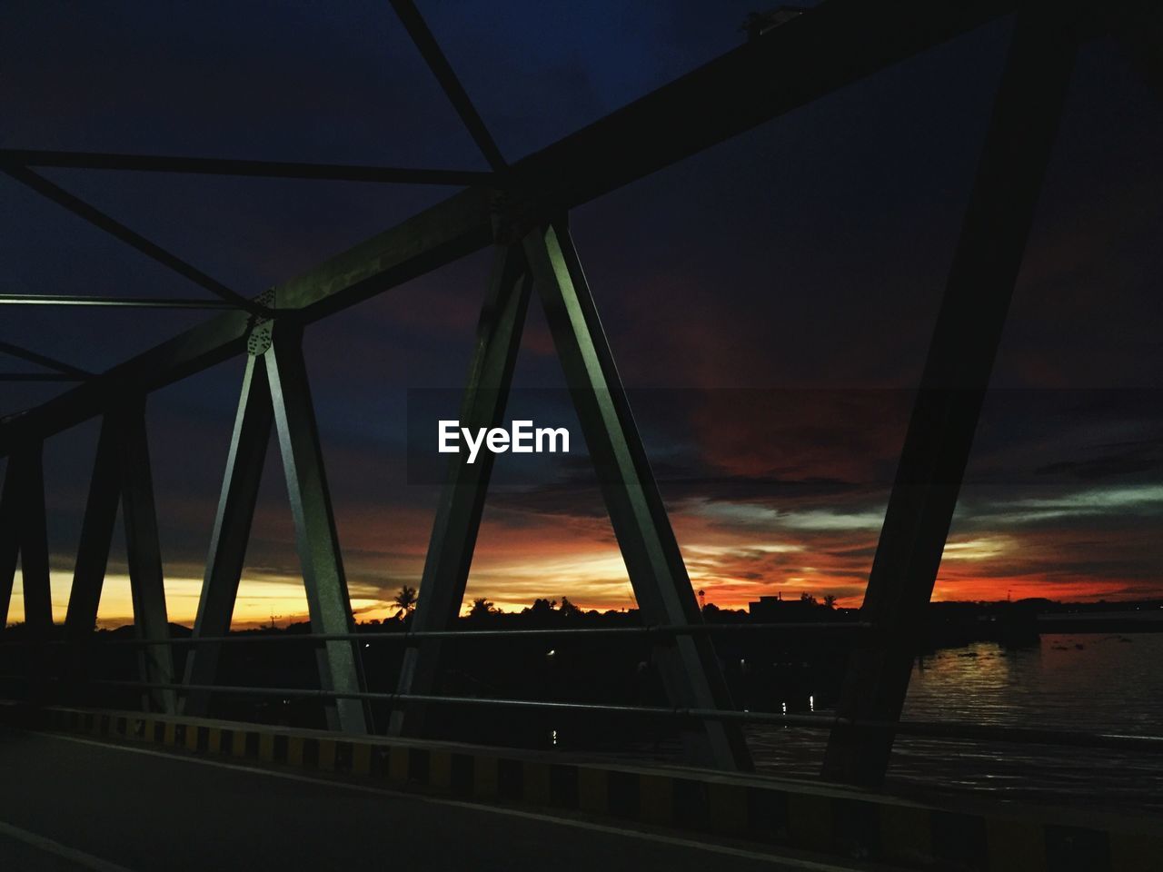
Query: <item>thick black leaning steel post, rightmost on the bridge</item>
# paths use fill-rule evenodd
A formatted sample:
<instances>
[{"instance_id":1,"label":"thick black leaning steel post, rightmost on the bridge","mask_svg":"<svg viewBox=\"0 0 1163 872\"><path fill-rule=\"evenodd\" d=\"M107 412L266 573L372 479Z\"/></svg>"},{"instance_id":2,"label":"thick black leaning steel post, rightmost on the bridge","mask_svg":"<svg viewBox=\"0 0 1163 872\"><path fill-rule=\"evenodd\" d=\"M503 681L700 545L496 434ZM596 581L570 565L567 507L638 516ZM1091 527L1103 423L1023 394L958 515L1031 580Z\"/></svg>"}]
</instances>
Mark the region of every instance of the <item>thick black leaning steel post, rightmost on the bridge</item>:
<instances>
[{"instance_id":1,"label":"thick black leaning steel post, rightmost on the bridge","mask_svg":"<svg viewBox=\"0 0 1163 872\"><path fill-rule=\"evenodd\" d=\"M973 431L1005 326L1073 66L1069 16L1023 8L993 107L937 314L863 614L875 631L851 657L823 777L876 786L923 629Z\"/></svg>"}]
</instances>

